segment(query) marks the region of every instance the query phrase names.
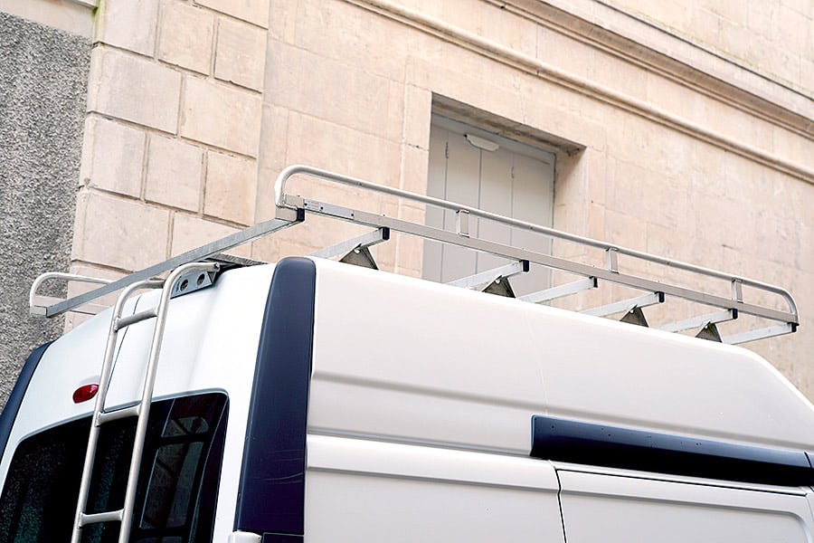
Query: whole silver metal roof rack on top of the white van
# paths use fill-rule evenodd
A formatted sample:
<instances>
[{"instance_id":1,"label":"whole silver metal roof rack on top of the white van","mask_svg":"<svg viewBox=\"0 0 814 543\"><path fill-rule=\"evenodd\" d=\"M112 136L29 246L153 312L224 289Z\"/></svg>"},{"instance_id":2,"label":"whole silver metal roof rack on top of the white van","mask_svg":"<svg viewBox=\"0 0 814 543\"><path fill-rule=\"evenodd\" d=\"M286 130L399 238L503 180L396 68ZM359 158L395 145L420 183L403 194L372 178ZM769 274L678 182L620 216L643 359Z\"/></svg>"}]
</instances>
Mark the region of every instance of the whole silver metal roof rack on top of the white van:
<instances>
[{"instance_id":1,"label":"whole silver metal roof rack on top of the white van","mask_svg":"<svg viewBox=\"0 0 814 543\"><path fill-rule=\"evenodd\" d=\"M367 191L402 198L421 205L431 205L450 210L456 216L456 228L454 231L445 230L426 224L389 217L383 214L374 214L344 205L335 205L304 198L299 195L288 194L286 192L286 185L289 179L296 175L317 177L340 185L355 186ZM647 326L648 323L643 309L651 305L664 303L666 300L688 300L703 306L717 308L718 311L714 313L704 312L697 317L669 323L658 328L668 331L696 329L697 337L730 344L789 334L795 332L800 324L797 306L791 298L790 293L768 283L754 281L723 271L702 268L685 262L678 262L647 252L626 249L619 245L593 240L572 233L561 232L553 228L527 223L512 217L493 214L469 205L456 204L428 195L419 195L390 186L378 185L370 181L350 176L342 176L316 167L290 166L285 168L277 178L275 200L277 214L274 219L248 227L241 232L232 233L220 240L179 254L165 262L160 262L144 270L131 273L117 281L99 281L93 278L69 276L67 274L43 274L43 276L33 283L31 291L32 312L46 317L53 317L65 311L81 310L83 306L87 306L93 300L97 300L99 297L109 294L110 292L123 289L136 281L145 281L156 277L161 273L174 270L178 266L188 262L200 262L211 259L213 255L232 249L242 243L299 224L305 221L308 214L317 214L354 224L369 226L374 228L374 230L344 243L338 243L317 251L313 253L313 256L323 258L339 256L342 257L342 262L376 268L374 258L368 248L376 243L386 242L390 239L392 233L403 233L417 236L424 240L448 243L459 247L466 247L473 251L489 253L511 262L494 270L479 272L475 275L452 281L451 283L464 288L514 297L515 294L512 291L509 279L517 274L529 271L530 266L534 264L535 266L544 266L552 270L566 271L581 279L544 291L525 294L520 297L520 300L544 303L550 300L571 296L578 292L599 288L601 283L607 281L624 285L636 291L641 291L642 295L629 300L615 301L599 308L585 310L583 311L584 313L599 317L621 313L623 314L621 320ZM477 235L473 235L469 228L469 222L472 217L504 224L526 232L538 233L554 240L575 243L582 248L601 250L604 252L604 265L595 266L579 262L576 259L561 258L544 252L530 251L504 243L478 238ZM709 291L681 286L676 282L656 281L622 271L619 264L620 256L639 262L655 264L663 267L665 270L685 271L705 278L706 280L715 281L720 287L729 291L731 295L721 296ZM234 264L235 262L232 259L232 262L229 263ZM50 298L43 300L43 297L39 296L36 291L40 285L42 285L43 281L47 279L105 282L106 284L103 284L103 286L93 291L80 294L68 300L54 300ZM782 301L783 305L788 307L788 310L779 310L771 305L744 300L743 287L749 287L763 295L771 294L771 296L776 299L774 301ZM47 305L48 303L51 305ZM773 324L768 328L751 329L732 336L722 337L718 332L717 324L727 320L737 319L741 314L769 320Z\"/></svg>"}]
</instances>

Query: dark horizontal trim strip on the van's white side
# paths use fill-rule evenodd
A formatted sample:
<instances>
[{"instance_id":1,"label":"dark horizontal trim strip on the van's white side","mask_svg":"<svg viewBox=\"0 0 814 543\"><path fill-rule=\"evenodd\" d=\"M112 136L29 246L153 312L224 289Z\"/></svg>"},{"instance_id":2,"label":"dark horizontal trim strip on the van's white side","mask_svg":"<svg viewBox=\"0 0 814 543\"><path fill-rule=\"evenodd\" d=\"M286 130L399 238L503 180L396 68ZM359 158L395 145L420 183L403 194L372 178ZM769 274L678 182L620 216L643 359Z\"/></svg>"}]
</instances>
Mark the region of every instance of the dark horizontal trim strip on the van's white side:
<instances>
[{"instance_id":1,"label":"dark horizontal trim strip on the van's white side","mask_svg":"<svg viewBox=\"0 0 814 543\"><path fill-rule=\"evenodd\" d=\"M641 472L781 486L814 485L809 454L630 430L543 415L532 417L535 458Z\"/></svg>"}]
</instances>

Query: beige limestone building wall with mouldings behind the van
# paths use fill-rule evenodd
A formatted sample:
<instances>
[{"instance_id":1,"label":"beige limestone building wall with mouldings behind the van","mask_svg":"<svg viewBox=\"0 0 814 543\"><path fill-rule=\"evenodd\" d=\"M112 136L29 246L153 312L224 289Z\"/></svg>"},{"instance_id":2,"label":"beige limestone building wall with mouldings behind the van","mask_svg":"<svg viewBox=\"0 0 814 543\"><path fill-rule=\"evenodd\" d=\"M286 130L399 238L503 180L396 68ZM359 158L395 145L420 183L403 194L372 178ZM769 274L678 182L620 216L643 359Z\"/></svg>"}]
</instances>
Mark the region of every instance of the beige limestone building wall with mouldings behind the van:
<instances>
[{"instance_id":1,"label":"beige limestone building wall with mouldings behind the van","mask_svg":"<svg viewBox=\"0 0 814 543\"><path fill-rule=\"evenodd\" d=\"M117 277L270 218L289 164L422 193L440 114L554 151L554 227L788 288L800 332L749 347L814 396L809 3L657 4L103 0L71 269ZM236 252L274 260L357 231L308 223ZM385 269L421 273L415 240L375 254Z\"/></svg>"}]
</instances>

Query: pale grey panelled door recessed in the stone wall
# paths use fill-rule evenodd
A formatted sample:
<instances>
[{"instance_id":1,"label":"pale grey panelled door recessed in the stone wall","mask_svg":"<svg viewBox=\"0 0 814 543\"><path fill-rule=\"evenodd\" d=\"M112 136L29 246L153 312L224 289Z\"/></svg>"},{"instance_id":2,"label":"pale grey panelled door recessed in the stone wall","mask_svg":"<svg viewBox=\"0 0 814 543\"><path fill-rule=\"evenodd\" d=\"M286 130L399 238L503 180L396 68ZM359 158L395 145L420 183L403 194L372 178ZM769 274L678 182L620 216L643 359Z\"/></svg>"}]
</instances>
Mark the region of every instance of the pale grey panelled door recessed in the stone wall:
<instances>
[{"instance_id":1,"label":"pale grey panelled door recessed in the stone wall","mask_svg":"<svg viewBox=\"0 0 814 543\"><path fill-rule=\"evenodd\" d=\"M554 155L500 138L450 119L433 118L430 134L430 171L427 194L551 226L554 203ZM455 214L428 207L427 224L455 229ZM495 224L469 220L469 232L480 238L536 252L551 252L544 236ZM424 244L423 276L449 282L487 271L510 261L440 243ZM550 286L550 273L533 266L510 280L517 295Z\"/></svg>"}]
</instances>

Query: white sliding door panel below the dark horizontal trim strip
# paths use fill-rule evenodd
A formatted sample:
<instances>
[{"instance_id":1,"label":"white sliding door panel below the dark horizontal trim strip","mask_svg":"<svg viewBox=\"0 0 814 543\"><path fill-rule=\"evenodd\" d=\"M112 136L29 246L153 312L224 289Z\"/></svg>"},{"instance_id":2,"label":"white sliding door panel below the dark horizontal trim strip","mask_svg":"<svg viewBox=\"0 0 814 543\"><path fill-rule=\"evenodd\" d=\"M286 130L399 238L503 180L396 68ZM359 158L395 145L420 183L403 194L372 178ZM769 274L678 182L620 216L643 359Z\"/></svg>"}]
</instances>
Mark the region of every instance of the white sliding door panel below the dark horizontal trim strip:
<instances>
[{"instance_id":1,"label":"white sliding door panel below the dark horizontal trim strip","mask_svg":"<svg viewBox=\"0 0 814 543\"><path fill-rule=\"evenodd\" d=\"M811 541L805 496L559 471L569 543Z\"/></svg>"}]
</instances>

